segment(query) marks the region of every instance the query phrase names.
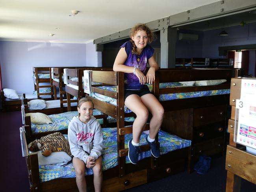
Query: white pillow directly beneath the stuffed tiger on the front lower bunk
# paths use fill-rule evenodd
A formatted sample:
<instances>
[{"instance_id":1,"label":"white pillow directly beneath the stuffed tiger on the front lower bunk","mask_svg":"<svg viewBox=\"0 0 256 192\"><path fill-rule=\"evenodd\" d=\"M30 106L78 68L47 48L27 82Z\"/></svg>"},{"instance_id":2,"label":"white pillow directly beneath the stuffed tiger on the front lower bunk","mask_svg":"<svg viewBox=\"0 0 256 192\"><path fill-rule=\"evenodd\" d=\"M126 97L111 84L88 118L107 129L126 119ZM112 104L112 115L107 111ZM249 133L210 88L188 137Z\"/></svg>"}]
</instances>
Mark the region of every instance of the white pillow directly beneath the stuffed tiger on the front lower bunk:
<instances>
[{"instance_id":1,"label":"white pillow directly beneath the stuffed tiger on the front lower bunk","mask_svg":"<svg viewBox=\"0 0 256 192\"><path fill-rule=\"evenodd\" d=\"M69 162L71 157L64 151L52 152L48 157L42 155L42 151L37 151L38 164L51 165L61 162Z\"/></svg>"}]
</instances>

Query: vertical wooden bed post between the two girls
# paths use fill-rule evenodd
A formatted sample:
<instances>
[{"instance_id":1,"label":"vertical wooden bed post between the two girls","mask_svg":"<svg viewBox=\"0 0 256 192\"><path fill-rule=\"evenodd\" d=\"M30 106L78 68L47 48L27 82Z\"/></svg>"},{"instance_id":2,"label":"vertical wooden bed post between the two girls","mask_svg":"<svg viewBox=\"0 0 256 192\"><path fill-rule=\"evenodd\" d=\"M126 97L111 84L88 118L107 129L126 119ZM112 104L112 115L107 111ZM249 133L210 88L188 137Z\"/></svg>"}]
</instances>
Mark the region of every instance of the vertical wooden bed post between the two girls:
<instances>
[{"instance_id":1,"label":"vertical wooden bed post between the two girls","mask_svg":"<svg viewBox=\"0 0 256 192\"><path fill-rule=\"evenodd\" d=\"M124 127L124 73L116 72L115 76L117 76L117 151L124 149L124 135L119 135L119 129ZM118 157L118 168L119 168L119 177L124 176L125 170L125 158Z\"/></svg>"}]
</instances>

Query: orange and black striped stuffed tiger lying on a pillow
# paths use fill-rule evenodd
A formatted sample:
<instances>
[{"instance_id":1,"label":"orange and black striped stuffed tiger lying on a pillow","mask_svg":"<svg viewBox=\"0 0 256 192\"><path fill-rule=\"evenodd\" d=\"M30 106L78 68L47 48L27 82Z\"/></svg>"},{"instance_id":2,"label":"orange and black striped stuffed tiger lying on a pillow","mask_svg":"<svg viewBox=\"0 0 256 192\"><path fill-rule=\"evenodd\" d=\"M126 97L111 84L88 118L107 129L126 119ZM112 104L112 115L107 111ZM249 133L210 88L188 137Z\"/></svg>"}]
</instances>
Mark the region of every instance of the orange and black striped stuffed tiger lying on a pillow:
<instances>
[{"instance_id":1,"label":"orange and black striped stuffed tiger lying on a pillow","mask_svg":"<svg viewBox=\"0 0 256 192\"><path fill-rule=\"evenodd\" d=\"M41 150L42 155L45 157L48 157L52 152L55 151L65 151L68 155L70 155L70 157L72 157L69 142L59 132L34 140L29 150L32 152Z\"/></svg>"}]
</instances>

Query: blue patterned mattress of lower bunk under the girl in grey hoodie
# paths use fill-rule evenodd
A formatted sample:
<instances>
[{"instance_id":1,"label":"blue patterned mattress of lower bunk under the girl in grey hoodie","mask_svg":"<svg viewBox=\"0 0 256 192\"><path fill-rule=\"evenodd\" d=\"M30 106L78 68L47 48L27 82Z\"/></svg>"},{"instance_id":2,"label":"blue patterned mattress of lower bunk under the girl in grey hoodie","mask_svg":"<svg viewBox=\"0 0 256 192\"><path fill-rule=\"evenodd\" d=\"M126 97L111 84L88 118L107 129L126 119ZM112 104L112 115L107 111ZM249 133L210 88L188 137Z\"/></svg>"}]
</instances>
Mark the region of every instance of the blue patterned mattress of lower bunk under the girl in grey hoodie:
<instances>
[{"instance_id":1,"label":"blue patterned mattress of lower bunk under the girl in grey hoodie","mask_svg":"<svg viewBox=\"0 0 256 192\"><path fill-rule=\"evenodd\" d=\"M104 128L103 132L103 144L104 149L102 151L102 170L107 170L117 166L117 128ZM147 144L145 137L147 135L143 133L140 139L140 145ZM67 137L67 135L65 135ZM132 139L132 134L125 135L125 148L128 148L128 141ZM160 154L163 155L169 151L178 150L181 148L189 147L191 140L182 139L176 135L171 135L165 131L159 131L158 140L160 142ZM150 151L143 151L139 153L139 160L146 157L151 157ZM126 163L130 163L128 156L126 156ZM76 173L72 163L63 167L61 165L66 163L58 163L53 165L39 166L40 182L50 181L57 178L72 178L76 177ZM92 175L93 171L86 168L85 175Z\"/></svg>"}]
</instances>

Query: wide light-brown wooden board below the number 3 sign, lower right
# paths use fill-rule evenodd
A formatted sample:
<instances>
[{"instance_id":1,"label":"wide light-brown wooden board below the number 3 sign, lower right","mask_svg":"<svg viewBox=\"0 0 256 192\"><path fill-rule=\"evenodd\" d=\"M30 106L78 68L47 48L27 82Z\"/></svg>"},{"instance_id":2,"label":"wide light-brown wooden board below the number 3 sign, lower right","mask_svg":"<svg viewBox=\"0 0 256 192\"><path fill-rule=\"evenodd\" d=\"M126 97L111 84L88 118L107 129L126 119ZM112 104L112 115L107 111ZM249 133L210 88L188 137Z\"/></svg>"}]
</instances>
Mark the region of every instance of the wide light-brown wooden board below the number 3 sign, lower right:
<instances>
[{"instance_id":1,"label":"wide light-brown wooden board below the number 3 sign, lower right","mask_svg":"<svg viewBox=\"0 0 256 192\"><path fill-rule=\"evenodd\" d=\"M226 152L226 170L256 184L256 156L230 145Z\"/></svg>"}]
</instances>

